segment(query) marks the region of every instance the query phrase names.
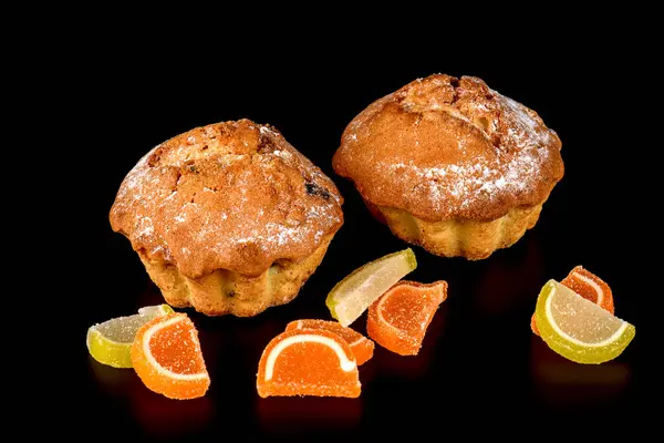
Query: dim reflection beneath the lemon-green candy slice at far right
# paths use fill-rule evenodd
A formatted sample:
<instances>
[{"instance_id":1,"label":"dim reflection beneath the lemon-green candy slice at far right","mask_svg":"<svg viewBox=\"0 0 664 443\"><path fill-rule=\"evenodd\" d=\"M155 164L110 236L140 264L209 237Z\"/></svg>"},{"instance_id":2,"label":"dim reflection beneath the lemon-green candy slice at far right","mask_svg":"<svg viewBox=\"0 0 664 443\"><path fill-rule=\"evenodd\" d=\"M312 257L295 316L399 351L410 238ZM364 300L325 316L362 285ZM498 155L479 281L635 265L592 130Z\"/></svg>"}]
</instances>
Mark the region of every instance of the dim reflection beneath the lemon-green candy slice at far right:
<instances>
[{"instance_id":1,"label":"dim reflection beneath the lemon-green candy slice at far right","mask_svg":"<svg viewBox=\"0 0 664 443\"><path fill-rule=\"evenodd\" d=\"M538 395L547 403L594 403L619 395L631 380L630 365L616 360L581 364L553 352L532 334L530 365Z\"/></svg>"}]
</instances>

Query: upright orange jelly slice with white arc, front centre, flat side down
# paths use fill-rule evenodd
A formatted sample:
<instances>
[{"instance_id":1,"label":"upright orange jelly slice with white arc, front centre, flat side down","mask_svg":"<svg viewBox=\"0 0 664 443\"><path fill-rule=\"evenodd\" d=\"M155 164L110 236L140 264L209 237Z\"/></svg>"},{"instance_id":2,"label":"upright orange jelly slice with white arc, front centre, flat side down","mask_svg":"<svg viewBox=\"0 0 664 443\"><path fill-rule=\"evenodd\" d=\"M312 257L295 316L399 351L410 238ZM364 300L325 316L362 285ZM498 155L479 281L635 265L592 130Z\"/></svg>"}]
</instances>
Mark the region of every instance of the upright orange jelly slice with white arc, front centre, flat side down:
<instances>
[{"instance_id":1,"label":"upright orange jelly slice with white arc, front centre, flat side down","mask_svg":"<svg viewBox=\"0 0 664 443\"><path fill-rule=\"evenodd\" d=\"M356 398L361 384L355 357L343 338L324 329L291 329L263 350L256 387L262 398Z\"/></svg>"}]
</instances>

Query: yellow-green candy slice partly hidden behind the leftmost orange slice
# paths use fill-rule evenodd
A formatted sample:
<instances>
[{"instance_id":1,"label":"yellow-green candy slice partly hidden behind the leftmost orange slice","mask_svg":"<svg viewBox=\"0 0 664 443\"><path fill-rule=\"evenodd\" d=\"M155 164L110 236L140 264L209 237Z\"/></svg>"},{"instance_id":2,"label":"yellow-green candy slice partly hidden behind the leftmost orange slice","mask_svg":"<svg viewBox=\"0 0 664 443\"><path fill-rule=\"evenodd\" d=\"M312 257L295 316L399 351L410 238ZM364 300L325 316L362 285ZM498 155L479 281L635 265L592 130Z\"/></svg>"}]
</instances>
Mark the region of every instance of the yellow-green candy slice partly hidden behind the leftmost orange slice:
<instances>
[{"instance_id":1,"label":"yellow-green candy slice partly hidden behind the leftmost orange slice","mask_svg":"<svg viewBox=\"0 0 664 443\"><path fill-rule=\"evenodd\" d=\"M136 331L146 322L173 312L168 305L147 306L138 313L117 317L87 329L85 343L90 354L100 363L114 368L132 368L132 344Z\"/></svg>"}]
</instances>

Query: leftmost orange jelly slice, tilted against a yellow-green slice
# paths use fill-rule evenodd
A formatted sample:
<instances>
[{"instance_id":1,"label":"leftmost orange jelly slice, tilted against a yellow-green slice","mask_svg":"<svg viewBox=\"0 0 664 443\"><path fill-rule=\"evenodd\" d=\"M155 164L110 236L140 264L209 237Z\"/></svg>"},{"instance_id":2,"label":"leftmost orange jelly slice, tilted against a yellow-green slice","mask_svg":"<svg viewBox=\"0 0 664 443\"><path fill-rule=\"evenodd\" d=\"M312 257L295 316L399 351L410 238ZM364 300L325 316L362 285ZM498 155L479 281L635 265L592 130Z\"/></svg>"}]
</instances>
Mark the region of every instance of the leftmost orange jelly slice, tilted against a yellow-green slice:
<instances>
[{"instance_id":1,"label":"leftmost orange jelly slice, tilted against a yellow-green slice","mask_svg":"<svg viewBox=\"0 0 664 443\"><path fill-rule=\"evenodd\" d=\"M148 389L169 399L203 396L210 385L198 331L185 313L143 324L132 346L132 364Z\"/></svg>"}]
</instances>

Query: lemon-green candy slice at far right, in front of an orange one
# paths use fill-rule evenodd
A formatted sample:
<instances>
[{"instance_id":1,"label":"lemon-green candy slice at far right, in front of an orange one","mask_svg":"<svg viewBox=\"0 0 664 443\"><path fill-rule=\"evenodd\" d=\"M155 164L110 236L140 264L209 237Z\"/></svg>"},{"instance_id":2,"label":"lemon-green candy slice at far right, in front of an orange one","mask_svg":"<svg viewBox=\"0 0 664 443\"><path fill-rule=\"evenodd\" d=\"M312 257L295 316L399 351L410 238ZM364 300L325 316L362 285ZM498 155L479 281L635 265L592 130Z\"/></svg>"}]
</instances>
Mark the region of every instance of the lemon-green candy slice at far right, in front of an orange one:
<instances>
[{"instance_id":1,"label":"lemon-green candy slice at far right, in front of an orange one","mask_svg":"<svg viewBox=\"0 0 664 443\"><path fill-rule=\"evenodd\" d=\"M549 280L540 291L535 315L549 348L579 363L613 360L636 333L633 324L556 280Z\"/></svg>"}]
</instances>

